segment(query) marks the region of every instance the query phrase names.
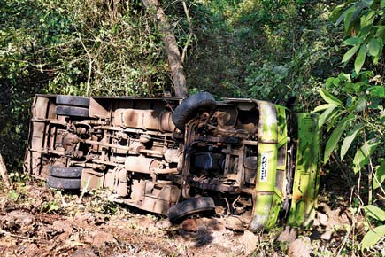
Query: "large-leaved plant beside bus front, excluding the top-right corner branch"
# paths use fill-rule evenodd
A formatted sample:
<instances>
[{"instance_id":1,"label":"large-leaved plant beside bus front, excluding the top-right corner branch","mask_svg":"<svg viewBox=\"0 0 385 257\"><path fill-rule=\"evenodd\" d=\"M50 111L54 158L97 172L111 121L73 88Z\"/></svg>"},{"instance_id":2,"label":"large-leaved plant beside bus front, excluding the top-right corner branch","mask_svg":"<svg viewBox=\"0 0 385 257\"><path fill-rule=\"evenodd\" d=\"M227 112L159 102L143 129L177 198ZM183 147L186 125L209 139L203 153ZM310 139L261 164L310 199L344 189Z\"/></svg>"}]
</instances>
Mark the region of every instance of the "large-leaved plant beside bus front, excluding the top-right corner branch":
<instances>
[{"instance_id":1,"label":"large-leaved plant beside bus front, excluding the top-right corner branch","mask_svg":"<svg viewBox=\"0 0 385 257\"><path fill-rule=\"evenodd\" d=\"M375 80L371 72L330 77L327 79L326 89L320 90L320 96L327 104L318 106L315 111L323 112L321 125L325 123L331 135L325 147L324 162L329 160L333 152L340 150L339 161L348 156L347 162L354 174L359 172L368 177L374 174L373 189L384 193L385 149L380 145L384 144L382 131L385 123L382 119L385 95L379 88L381 86L373 82ZM372 184L368 184L369 203L372 201L371 188ZM385 211L382 208L368 205L364 209L371 219L380 222L385 220ZM361 241L362 250L372 247L385 236L384 228L385 226L380 225L368 230Z\"/></svg>"}]
</instances>

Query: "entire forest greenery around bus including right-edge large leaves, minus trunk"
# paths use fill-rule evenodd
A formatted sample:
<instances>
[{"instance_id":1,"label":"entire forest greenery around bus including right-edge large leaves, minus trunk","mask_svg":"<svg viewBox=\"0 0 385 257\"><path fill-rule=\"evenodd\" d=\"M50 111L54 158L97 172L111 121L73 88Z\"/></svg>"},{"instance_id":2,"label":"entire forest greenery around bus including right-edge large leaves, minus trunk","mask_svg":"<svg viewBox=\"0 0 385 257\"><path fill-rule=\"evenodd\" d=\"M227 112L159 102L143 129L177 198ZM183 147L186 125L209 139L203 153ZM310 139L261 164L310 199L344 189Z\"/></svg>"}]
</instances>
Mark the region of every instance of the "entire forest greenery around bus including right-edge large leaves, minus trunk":
<instances>
[{"instance_id":1,"label":"entire forest greenery around bus including right-edge large leaves, minus trunk","mask_svg":"<svg viewBox=\"0 0 385 257\"><path fill-rule=\"evenodd\" d=\"M294 111L320 112L324 162L332 163L325 169L338 167L355 189L355 212L366 207L366 230L385 235L385 1L159 4L173 27L189 92L276 103L295 97ZM165 92L173 93L173 81L164 42L142 1L0 2L0 152L11 170L22 167L36 93Z\"/></svg>"}]
</instances>

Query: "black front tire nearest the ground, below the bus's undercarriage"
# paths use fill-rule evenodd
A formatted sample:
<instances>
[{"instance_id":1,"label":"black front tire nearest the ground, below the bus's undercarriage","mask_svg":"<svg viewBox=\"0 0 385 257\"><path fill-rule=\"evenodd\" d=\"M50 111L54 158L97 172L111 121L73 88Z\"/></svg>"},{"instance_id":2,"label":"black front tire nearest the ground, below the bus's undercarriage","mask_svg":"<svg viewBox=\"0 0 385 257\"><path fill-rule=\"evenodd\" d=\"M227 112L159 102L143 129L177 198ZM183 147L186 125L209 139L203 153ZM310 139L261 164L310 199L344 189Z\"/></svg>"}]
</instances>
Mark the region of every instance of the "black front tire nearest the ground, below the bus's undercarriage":
<instances>
[{"instance_id":1,"label":"black front tire nearest the ground, below the bus's undercarriage","mask_svg":"<svg viewBox=\"0 0 385 257\"><path fill-rule=\"evenodd\" d=\"M187 199L168 209L168 219L170 222L176 223L191 214L212 212L214 210L214 200L210 197Z\"/></svg>"}]
</instances>

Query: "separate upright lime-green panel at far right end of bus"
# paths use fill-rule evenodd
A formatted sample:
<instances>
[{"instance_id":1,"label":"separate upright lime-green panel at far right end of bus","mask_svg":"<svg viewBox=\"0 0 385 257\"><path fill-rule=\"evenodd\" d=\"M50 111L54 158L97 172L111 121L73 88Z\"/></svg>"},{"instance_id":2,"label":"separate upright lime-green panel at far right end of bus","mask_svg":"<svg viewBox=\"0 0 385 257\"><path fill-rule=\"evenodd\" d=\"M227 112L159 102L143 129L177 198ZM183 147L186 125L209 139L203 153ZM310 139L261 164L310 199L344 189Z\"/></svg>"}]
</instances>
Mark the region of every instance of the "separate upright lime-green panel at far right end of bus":
<instances>
[{"instance_id":1,"label":"separate upright lime-green panel at far right end of bus","mask_svg":"<svg viewBox=\"0 0 385 257\"><path fill-rule=\"evenodd\" d=\"M320 186L320 128L318 113L297 113L298 142L288 224L308 227L317 207Z\"/></svg>"}]
</instances>

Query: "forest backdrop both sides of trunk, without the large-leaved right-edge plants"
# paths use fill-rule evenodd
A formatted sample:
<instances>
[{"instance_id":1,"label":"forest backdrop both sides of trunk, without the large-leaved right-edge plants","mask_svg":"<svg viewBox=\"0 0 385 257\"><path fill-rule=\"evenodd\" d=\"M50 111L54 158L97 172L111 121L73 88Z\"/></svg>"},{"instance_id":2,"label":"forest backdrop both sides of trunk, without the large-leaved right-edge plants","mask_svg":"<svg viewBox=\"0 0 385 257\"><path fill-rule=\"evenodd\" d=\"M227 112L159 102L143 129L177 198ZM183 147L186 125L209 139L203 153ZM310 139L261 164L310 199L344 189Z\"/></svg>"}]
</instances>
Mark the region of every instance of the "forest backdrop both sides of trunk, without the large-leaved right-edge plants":
<instances>
[{"instance_id":1,"label":"forest backdrop both sides of trunk, without the large-leaved right-edge plants","mask_svg":"<svg viewBox=\"0 0 385 257\"><path fill-rule=\"evenodd\" d=\"M183 7L185 6L185 8ZM253 97L311 111L341 62L333 1L163 1L190 92ZM0 4L0 151L23 156L36 93L173 92L156 20L139 0L4 0Z\"/></svg>"}]
</instances>

